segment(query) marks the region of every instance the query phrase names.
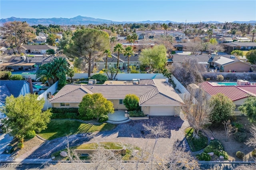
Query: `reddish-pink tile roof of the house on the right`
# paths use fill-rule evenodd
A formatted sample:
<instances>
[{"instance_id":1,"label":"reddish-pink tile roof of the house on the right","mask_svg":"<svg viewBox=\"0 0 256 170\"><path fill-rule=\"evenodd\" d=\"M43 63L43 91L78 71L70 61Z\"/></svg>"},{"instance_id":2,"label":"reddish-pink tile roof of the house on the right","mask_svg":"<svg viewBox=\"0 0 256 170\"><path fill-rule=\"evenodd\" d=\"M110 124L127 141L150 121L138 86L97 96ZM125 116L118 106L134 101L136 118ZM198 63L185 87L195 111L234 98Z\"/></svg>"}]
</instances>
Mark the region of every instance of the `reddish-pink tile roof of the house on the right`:
<instances>
[{"instance_id":1,"label":"reddish-pink tile roof of the house on the right","mask_svg":"<svg viewBox=\"0 0 256 170\"><path fill-rule=\"evenodd\" d=\"M205 81L200 83L202 89L204 89L210 95L216 95L217 93L222 93L230 98L232 101L237 101L244 99L250 94L237 86L214 86L211 83Z\"/></svg>"}]
</instances>

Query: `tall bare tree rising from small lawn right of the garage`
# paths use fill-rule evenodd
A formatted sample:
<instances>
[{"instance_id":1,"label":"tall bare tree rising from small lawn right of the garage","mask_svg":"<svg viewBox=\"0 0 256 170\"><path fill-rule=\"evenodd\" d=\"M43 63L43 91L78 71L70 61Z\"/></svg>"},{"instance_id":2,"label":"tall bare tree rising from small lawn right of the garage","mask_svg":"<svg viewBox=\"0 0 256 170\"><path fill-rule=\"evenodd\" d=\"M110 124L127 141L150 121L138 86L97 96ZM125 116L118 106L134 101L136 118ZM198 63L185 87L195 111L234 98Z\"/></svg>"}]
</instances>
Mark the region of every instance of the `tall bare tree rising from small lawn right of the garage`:
<instances>
[{"instance_id":1,"label":"tall bare tree rising from small lawn right of the garage","mask_svg":"<svg viewBox=\"0 0 256 170\"><path fill-rule=\"evenodd\" d=\"M197 93L195 89L191 89L190 94L186 94L182 111L186 115L188 123L193 127L193 136L198 138L199 130L210 123L209 101L201 88L198 89Z\"/></svg>"}]
</instances>

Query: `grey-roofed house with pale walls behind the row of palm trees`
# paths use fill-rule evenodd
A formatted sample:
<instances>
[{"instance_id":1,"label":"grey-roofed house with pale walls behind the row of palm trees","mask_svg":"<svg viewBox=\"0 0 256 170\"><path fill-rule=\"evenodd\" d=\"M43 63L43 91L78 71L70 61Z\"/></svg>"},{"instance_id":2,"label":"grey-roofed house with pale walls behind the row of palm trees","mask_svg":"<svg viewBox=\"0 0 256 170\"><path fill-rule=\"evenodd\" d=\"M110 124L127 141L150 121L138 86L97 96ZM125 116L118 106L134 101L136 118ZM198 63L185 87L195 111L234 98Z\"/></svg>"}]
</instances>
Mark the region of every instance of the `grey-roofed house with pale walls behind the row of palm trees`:
<instances>
[{"instance_id":1,"label":"grey-roofed house with pale walls behind the row of palm trees","mask_svg":"<svg viewBox=\"0 0 256 170\"><path fill-rule=\"evenodd\" d=\"M139 58L139 53L134 53L134 55L132 55L130 57L130 62L129 65L132 67L135 67L136 69L140 68L140 61L138 60ZM108 69L110 67L115 67L116 68L116 64L117 64L117 59L118 56L117 54L112 54L112 58L108 57ZM106 57L103 58L102 61L97 61L95 62L96 67L98 70L102 70L105 69L105 65L106 65ZM128 68L128 56L124 56L124 54L120 54L119 56L119 69L124 70Z\"/></svg>"}]
</instances>

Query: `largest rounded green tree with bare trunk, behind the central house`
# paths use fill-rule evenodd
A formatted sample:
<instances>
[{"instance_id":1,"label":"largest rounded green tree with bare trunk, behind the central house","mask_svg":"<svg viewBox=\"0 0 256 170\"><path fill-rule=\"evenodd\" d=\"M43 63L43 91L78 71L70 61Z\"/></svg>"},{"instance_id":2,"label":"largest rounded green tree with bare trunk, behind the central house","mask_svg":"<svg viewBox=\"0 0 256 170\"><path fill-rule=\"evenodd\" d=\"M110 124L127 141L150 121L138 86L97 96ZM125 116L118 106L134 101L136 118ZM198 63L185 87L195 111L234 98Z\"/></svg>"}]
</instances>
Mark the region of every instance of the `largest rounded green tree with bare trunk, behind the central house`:
<instances>
[{"instance_id":1,"label":"largest rounded green tree with bare trunk, behind the central house","mask_svg":"<svg viewBox=\"0 0 256 170\"><path fill-rule=\"evenodd\" d=\"M88 77L90 77L92 61L96 60L100 53L109 48L110 40L108 33L85 28L74 33L72 42L65 45L64 53L70 57L83 58L88 63Z\"/></svg>"}]
</instances>

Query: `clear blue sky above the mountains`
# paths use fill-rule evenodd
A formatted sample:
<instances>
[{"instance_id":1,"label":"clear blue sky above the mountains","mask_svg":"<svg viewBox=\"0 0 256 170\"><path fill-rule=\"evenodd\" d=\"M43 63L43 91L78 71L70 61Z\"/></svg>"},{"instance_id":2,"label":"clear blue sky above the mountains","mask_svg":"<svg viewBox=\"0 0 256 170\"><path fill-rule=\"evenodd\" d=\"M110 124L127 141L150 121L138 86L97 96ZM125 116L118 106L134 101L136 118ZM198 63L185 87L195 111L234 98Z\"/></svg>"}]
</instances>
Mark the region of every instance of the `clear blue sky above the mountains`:
<instances>
[{"instance_id":1,"label":"clear blue sky above the mountains","mask_svg":"<svg viewBox=\"0 0 256 170\"><path fill-rule=\"evenodd\" d=\"M256 0L0 0L0 18L73 18L112 21L256 20Z\"/></svg>"}]
</instances>

